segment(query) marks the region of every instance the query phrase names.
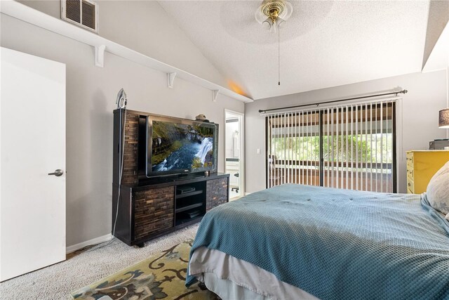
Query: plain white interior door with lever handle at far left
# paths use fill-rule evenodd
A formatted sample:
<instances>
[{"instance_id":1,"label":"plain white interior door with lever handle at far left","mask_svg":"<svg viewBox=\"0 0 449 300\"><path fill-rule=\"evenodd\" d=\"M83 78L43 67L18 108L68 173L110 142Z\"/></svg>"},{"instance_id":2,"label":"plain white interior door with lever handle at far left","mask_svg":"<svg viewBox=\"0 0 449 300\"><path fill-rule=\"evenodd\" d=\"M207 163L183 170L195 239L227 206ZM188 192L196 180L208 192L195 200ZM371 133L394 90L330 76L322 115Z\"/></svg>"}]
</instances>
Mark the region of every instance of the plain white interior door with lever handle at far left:
<instances>
[{"instance_id":1,"label":"plain white interior door with lever handle at far left","mask_svg":"<svg viewBox=\"0 0 449 300\"><path fill-rule=\"evenodd\" d=\"M65 65L0 48L0 281L65 260ZM56 169L62 176L48 175Z\"/></svg>"}]
</instances>

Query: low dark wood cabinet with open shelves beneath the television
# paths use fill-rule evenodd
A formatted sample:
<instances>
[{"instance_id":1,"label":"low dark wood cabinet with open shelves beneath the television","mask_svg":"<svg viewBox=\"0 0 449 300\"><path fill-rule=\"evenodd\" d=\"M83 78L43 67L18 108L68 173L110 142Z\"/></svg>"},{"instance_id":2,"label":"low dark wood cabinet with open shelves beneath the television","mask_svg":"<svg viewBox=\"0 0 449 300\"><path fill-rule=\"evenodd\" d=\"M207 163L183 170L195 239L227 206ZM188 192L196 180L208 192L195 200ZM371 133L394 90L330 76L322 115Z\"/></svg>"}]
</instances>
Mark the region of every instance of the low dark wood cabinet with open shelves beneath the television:
<instances>
[{"instance_id":1,"label":"low dark wood cabinet with open shelves beneath the television","mask_svg":"<svg viewBox=\"0 0 449 300\"><path fill-rule=\"evenodd\" d=\"M229 174L122 185L115 236L128 245L141 247L147 240L199 222L207 211L229 201L228 185ZM182 188L192 191L182 193ZM118 190L118 185L114 186L113 221Z\"/></svg>"}]
</instances>

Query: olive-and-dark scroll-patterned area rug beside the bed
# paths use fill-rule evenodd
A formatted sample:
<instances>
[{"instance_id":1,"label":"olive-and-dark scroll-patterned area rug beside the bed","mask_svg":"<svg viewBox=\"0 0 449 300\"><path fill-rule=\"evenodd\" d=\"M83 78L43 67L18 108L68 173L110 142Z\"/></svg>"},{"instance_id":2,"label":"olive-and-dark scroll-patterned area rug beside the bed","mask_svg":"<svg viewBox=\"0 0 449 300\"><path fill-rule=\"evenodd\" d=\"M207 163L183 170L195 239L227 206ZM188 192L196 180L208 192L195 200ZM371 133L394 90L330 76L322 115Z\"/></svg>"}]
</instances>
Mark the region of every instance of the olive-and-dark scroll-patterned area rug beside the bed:
<instances>
[{"instance_id":1,"label":"olive-and-dark scroll-patterned area rug beside the bed","mask_svg":"<svg viewBox=\"0 0 449 300\"><path fill-rule=\"evenodd\" d=\"M109 277L71 294L73 299L154 300L220 299L198 282L185 287L187 262L193 240L150 256Z\"/></svg>"}]
</instances>

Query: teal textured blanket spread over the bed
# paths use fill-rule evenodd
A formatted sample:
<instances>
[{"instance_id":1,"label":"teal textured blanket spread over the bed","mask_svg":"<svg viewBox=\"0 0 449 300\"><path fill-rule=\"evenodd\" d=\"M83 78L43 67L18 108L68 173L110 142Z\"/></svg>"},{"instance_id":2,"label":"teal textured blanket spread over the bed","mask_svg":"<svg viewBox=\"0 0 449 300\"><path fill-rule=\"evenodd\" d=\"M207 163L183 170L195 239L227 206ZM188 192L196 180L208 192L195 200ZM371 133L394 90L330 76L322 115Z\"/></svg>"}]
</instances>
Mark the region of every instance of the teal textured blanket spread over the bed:
<instances>
[{"instance_id":1,"label":"teal textured blanket spread over the bed","mask_svg":"<svg viewBox=\"0 0 449 300\"><path fill-rule=\"evenodd\" d=\"M319 299L449 299L449 222L425 195L280 185L209 211L202 246Z\"/></svg>"}]
</instances>

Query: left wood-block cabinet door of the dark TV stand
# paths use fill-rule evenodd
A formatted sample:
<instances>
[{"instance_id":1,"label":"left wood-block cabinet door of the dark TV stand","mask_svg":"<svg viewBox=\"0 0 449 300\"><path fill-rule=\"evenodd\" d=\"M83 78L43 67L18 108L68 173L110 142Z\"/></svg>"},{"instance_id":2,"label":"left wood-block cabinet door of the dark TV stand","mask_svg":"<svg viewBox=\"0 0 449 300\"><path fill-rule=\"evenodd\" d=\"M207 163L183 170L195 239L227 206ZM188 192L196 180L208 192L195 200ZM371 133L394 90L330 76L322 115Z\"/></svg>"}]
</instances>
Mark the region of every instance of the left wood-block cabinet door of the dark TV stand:
<instances>
[{"instance_id":1,"label":"left wood-block cabinet door of the dark TV stand","mask_svg":"<svg viewBox=\"0 0 449 300\"><path fill-rule=\"evenodd\" d=\"M155 235L175 225L175 187L152 188L133 193L134 240Z\"/></svg>"}]
</instances>

